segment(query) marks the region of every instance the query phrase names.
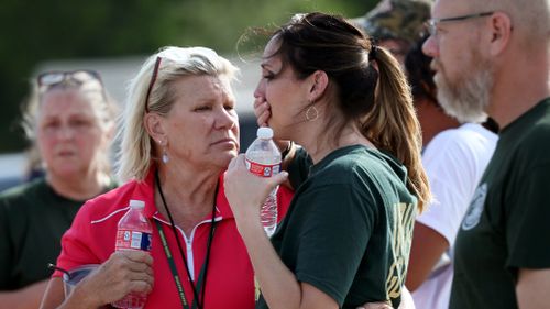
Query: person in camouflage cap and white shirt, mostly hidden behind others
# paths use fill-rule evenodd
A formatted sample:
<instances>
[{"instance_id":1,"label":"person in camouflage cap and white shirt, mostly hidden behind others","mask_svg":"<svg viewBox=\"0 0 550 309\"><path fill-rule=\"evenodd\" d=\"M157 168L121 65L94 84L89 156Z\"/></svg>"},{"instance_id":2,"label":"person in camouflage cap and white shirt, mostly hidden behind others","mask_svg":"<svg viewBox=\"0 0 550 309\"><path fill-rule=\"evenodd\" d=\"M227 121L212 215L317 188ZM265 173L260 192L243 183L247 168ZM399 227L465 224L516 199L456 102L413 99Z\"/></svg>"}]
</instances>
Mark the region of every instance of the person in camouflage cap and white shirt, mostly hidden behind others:
<instances>
[{"instance_id":1,"label":"person in camouflage cap and white shirt, mostly hidden behind others","mask_svg":"<svg viewBox=\"0 0 550 309\"><path fill-rule=\"evenodd\" d=\"M485 125L448 115L436 98L431 57L421 52L431 5L427 0L384 0L352 21L389 48L407 71L435 200L416 218L406 286L417 308L447 309L457 231L497 137Z\"/></svg>"}]
</instances>

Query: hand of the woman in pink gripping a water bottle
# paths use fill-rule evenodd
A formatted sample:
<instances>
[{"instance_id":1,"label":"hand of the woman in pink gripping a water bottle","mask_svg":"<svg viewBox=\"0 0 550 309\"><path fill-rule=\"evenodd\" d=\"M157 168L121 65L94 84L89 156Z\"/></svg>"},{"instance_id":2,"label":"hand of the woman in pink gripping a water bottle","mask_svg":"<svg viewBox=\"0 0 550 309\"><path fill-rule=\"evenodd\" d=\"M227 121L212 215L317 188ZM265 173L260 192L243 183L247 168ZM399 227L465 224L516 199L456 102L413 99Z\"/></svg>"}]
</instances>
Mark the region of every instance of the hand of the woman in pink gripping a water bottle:
<instances>
[{"instance_id":1,"label":"hand of the woman in pink gripping a water bottle","mask_svg":"<svg viewBox=\"0 0 550 309\"><path fill-rule=\"evenodd\" d=\"M143 251L124 250L86 276L70 298L86 299L99 307L122 299L131 291L148 294L153 289L153 257Z\"/></svg>"}]
</instances>

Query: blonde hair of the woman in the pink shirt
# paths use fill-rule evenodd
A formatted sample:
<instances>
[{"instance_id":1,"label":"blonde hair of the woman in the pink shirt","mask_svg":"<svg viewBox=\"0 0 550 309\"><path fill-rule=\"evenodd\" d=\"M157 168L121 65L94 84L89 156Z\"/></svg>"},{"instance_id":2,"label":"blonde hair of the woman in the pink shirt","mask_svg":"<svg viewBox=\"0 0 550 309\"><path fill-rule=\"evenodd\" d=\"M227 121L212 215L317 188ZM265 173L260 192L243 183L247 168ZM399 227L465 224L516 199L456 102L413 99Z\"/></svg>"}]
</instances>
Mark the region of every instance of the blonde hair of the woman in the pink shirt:
<instances>
[{"instance_id":1,"label":"blonde hair of the woman in the pink shirt","mask_svg":"<svg viewBox=\"0 0 550 309\"><path fill-rule=\"evenodd\" d=\"M158 58L158 59L157 59ZM155 64L160 62L156 78L152 80ZM215 51L205 47L167 46L148 57L129 88L128 101L121 118L121 147L117 167L122 180L143 180L151 168L154 143L145 130L146 112L167 114L177 98L172 82L194 75L211 75L234 80L238 68ZM153 88L150 90L150 85ZM147 90L151 91L145 102ZM145 106L146 104L146 106Z\"/></svg>"}]
</instances>

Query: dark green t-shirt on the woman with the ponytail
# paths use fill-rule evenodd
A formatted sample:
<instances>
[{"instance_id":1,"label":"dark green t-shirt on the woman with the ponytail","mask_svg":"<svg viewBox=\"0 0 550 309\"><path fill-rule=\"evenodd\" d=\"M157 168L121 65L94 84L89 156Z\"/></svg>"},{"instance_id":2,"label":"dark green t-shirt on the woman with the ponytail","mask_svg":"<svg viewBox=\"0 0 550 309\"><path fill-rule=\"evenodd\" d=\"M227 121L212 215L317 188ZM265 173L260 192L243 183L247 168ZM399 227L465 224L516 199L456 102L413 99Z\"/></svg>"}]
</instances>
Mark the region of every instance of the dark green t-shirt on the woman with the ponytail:
<instances>
[{"instance_id":1,"label":"dark green t-shirt on the woman with the ponytail","mask_svg":"<svg viewBox=\"0 0 550 309\"><path fill-rule=\"evenodd\" d=\"M340 307L391 300L397 308L416 213L406 176L395 159L361 145L311 166L272 238L285 265ZM263 298L256 308L267 308Z\"/></svg>"}]
</instances>

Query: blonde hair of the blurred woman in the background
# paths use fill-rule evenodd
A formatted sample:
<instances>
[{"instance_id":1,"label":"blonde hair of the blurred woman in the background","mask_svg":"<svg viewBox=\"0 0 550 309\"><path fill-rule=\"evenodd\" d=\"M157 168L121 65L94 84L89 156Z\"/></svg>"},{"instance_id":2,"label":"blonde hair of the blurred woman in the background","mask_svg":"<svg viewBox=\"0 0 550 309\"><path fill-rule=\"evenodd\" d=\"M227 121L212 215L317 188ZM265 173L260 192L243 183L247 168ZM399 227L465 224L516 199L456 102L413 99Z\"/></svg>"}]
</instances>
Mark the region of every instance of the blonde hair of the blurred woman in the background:
<instances>
[{"instance_id":1,"label":"blonde hair of the blurred woman in the background","mask_svg":"<svg viewBox=\"0 0 550 309\"><path fill-rule=\"evenodd\" d=\"M98 77L99 78L99 77ZM72 79L64 79L63 81L52 86L38 86L36 80L31 81L31 92L22 108L22 122L26 139L30 141L29 148L30 166L35 168L43 164L42 156L36 146L36 132L38 130L37 123L40 118L40 107L44 95L50 91L77 91L79 96L86 99L99 119L99 125L103 134L110 134L116 125L116 118L119 108L114 100L107 93L105 86L99 79L90 79L84 84L74 82ZM105 145L105 148L99 151L96 155L98 169L107 176L111 175L112 168L109 158L110 143Z\"/></svg>"}]
</instances>

